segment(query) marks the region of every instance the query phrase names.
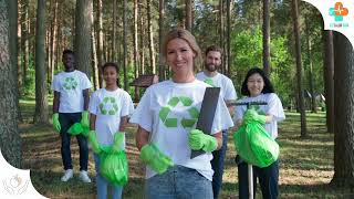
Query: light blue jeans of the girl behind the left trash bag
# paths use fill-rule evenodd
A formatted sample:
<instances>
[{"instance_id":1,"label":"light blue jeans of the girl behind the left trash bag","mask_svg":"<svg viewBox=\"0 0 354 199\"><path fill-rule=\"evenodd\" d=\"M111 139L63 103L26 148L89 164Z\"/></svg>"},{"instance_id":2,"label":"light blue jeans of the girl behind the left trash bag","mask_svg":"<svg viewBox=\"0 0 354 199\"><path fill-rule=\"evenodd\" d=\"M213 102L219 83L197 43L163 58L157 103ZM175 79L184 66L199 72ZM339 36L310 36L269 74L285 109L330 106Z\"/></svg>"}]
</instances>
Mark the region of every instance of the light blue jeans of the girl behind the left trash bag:
<instances>
[{"instance_id":1,"label":"light blue jeans of the girl behind the left trash bag","mask_svg":"<svg viewBox=\"0 0 354 199\"><path fill-rule=\"evenodd\" d=\"M104 177L102 177L100 174L100 156L95 154L93 157L95 159L97 199L107 198L108 187L112 190L112 198L121 199L123 187L113 186Z\"/></svg>"}]
</instances>

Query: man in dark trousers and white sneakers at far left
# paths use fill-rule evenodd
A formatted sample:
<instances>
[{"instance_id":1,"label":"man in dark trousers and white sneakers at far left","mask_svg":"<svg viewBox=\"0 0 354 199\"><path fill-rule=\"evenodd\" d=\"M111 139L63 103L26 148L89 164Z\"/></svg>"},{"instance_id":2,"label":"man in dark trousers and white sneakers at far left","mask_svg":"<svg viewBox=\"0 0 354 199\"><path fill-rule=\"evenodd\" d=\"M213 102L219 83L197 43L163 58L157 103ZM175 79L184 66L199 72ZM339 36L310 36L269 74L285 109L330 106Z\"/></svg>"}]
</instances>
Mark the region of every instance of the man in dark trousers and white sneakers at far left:
<instances>
[{"instance_id":1,"label":"man in dark trousers and white sneakers at far left","mask_svg":"<svg viewBox=\"0 0 354 199\"><path fill-rule=\"evenodd\" d=\"M74 123L81 123L88 127L88 90L92 87L86 74L74 67L74 52L65 50L62 62L65 71L60 72L53 78L51 88L54 91L53 100L53 127L60 133L62 147L61 155L64 166L62 181L73 177L73 166L70 150L71 135L67 129ZM82 134L76 135L80 147L80 179L91 182L87 176L88 147L87 139Z\"/></svg>"}]
</instances>

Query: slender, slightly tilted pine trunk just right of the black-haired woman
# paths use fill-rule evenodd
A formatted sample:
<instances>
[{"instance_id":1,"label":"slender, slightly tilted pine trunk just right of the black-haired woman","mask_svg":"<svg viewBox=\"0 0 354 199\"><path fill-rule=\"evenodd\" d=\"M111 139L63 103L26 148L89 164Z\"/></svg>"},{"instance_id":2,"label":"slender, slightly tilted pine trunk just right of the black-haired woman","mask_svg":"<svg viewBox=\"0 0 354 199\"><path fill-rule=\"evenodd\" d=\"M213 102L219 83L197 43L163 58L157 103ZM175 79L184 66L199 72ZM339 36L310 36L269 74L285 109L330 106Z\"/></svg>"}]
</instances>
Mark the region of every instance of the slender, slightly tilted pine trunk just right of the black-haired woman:
<instances>
[{"instance_id":1,"label":"slender, slightly tilted pine trunk just right of the black-haired woman","mask_svg":"<svg viewBox=\"0 0 354 199\"><path fill-rule=\"evenodd\" d=\"M308 137L306 130L306 113L305 103L303 98L303 72L302 72L302 59L301 59L301 39L300 39L300 28L299 28L299 4L298 0L292 0L292 11L293 11L293 28L295 35L295 46L296 46L296 78L298 78L298 95L299 95L299 109L301 117L301 137Z\"/></svg>"}]
</instances>

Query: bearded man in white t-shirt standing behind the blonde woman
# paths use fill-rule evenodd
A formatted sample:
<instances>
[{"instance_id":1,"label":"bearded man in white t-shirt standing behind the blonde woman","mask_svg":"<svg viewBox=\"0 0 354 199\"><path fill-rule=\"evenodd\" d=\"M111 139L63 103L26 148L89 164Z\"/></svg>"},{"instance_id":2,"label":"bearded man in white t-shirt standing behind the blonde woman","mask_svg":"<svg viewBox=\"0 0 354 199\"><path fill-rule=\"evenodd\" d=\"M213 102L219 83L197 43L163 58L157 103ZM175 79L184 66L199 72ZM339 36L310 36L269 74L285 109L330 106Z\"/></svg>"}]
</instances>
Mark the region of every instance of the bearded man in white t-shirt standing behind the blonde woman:
<instances>
[{"instance_id":1,"label":"bearded man in white t-shirt standing behind the blonde woman","mask_svg":"<svg viewBox=\"0 0 354 199\"><path fill-rule=\"evenodd\" d=\"M237 94L232 81L226 75L218 73L218 69L221 66L222 50L216 45L211 45L206 50L205 70L199 72L196 77L205 83L220 87L220 95L228 106L229 113L233 113L230 103L237 100ZM221 185L222 185L222 172L223 172L223 159L226 156L228 143L228 132L222 130L222 147L219 150L212 151L211 167L214 169L212 176L212 192L214 198L218 198Z\"/></svg>"}]
</instances>

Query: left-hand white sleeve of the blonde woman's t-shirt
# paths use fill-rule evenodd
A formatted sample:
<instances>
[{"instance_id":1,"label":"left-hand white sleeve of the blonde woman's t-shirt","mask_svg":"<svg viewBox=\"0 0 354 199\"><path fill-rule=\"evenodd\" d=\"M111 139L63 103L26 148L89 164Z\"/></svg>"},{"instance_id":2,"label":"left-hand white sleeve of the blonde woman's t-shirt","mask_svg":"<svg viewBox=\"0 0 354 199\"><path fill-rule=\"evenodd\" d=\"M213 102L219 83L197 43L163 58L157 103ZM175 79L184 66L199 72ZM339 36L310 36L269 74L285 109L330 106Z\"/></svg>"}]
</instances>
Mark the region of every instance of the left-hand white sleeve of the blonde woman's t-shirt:
<instances>
[{"instance_id":1,"label":"left-hand white sleeve of the blonde woman's t-shirt","mask_svg":"<svg viewBox=\"0 0 354 199\"><path fill-rule=\"evenodd\" d=\"M152 92L150 88L147 88L129 119L131 123L138 124L142 128L146 129L147 132L153 130L154 115L150 109L150 100Z\"/></svg>"}]
</instances>

